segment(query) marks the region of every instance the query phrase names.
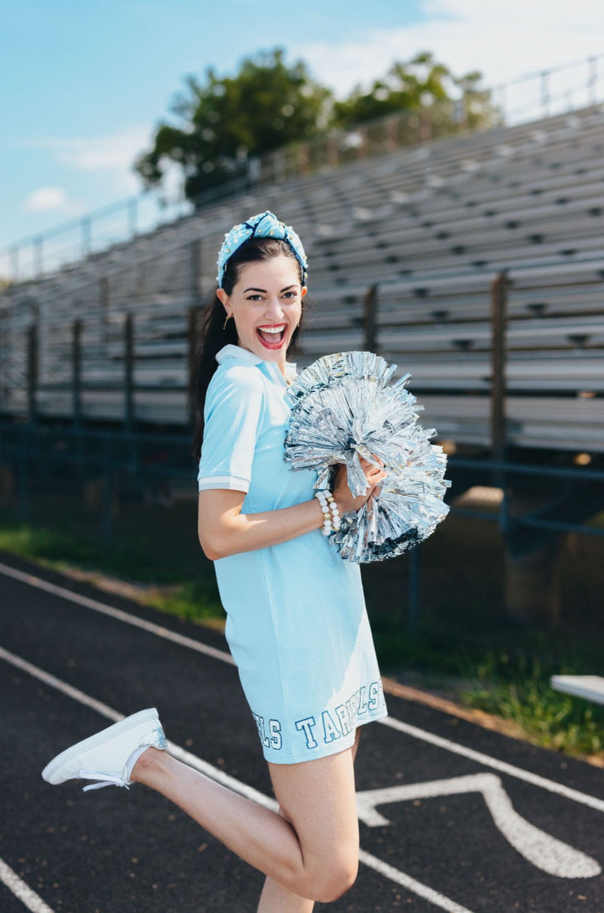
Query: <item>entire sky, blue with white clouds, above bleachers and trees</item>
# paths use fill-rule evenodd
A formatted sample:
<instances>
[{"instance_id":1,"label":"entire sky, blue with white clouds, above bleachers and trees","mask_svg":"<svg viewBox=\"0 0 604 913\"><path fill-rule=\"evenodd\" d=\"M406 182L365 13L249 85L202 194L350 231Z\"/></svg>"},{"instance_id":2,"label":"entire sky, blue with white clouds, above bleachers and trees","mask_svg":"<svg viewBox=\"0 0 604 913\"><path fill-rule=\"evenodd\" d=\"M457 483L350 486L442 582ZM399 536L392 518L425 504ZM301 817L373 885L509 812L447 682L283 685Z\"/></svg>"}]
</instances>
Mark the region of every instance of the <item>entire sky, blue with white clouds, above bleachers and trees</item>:
<instances>
[{"instance_id":1,"label":"entire sky, blue with white clouds, above bleachers and trees","mask_svg":"<svg viewBox=\"0 0 604 913\"><path fill-rule=\"evenodd\" d=\"M559 11L552 0L493 6L0 0L0 248L136 193L130 163L182 77L233 72L260 48L306 59L339 94L424 49L455 72L482 69L491 84L604 52L599 0Z\"/></svg>"}]
</instances>

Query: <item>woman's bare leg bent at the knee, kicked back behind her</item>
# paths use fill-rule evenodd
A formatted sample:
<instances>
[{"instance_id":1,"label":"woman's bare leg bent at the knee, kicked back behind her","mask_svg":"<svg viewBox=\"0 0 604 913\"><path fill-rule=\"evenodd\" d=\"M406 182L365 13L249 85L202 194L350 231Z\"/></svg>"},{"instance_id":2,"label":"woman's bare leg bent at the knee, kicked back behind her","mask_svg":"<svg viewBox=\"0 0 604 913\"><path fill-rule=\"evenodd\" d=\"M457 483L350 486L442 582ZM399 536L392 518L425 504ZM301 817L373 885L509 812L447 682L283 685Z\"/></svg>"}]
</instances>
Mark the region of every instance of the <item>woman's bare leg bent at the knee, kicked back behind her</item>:
<instances>
[{"instance_id":1,"label":"woman's bare leg bent at the knee, kicked back behind her","mask_svg":"<svg viewBox=\"0 0 604 913\"><path fill-rule=\"evenodd\" d=\"M359 859L352 750L317 761L269 764L269 770L283 815L165 751L145 751L131 779L161 792L290 893L324 902L336 899L353 883Z\"/></svg>"}]
</instances>

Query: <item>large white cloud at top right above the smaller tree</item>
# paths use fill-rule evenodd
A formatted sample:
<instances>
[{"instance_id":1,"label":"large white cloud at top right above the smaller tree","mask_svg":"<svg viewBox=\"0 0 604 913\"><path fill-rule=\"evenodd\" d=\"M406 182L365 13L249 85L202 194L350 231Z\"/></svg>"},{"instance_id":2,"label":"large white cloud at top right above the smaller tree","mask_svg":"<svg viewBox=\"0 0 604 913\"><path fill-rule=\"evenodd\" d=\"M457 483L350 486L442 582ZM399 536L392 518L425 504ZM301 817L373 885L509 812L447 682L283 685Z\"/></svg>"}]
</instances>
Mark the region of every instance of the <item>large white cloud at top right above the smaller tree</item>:
<instances>
[{"instance_id":1,"label":"large white cloud at top right above the smaller tree","mask_svg":"<svg viewBox=\"0 0 604 913\"><path fill-rule=\"evenodd\" d=\"M481 70L484 84L491 87L602 53L604 4L600 0L574 0L572 4L424 0L423 11L428 19L415 25L376 28L362 42L312 43L299 47L299 54L318 79L342 96L357 83L367 85L383 76L395 60L408 60L425 50L432 51L455 75ZM559 91L574 90L574 103L585 103L579 100L579 87L588 79L585 63L556 79ZM535 79L536 92L537 82ZM601 77L599 85L601 98ZM555 85L552 89L558 90Z\"/></svg>"}]
</instances>

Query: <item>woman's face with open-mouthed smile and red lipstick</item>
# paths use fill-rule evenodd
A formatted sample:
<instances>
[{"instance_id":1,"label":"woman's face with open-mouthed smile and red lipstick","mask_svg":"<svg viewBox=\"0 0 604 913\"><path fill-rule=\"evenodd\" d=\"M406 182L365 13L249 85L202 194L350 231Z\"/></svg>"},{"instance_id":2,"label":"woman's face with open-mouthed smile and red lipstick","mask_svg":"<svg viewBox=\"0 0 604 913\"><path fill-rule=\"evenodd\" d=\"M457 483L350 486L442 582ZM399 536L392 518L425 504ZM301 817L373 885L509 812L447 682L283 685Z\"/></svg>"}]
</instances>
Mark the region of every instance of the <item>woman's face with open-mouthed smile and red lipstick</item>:
<instances>
[{"instance_id":1,"label":"woman's face with open-mouthed smile and red lipstick","mask_svg":"<svg viewBox=\"0 0 604 913\"><path fill-rule=\"evenodd\" d=\"M306 291L297 260L280 256L240 267L231 295L224 289L217 294L226 313L233 315L238 344L284 371Z\"/></svg>"}]
</instances>

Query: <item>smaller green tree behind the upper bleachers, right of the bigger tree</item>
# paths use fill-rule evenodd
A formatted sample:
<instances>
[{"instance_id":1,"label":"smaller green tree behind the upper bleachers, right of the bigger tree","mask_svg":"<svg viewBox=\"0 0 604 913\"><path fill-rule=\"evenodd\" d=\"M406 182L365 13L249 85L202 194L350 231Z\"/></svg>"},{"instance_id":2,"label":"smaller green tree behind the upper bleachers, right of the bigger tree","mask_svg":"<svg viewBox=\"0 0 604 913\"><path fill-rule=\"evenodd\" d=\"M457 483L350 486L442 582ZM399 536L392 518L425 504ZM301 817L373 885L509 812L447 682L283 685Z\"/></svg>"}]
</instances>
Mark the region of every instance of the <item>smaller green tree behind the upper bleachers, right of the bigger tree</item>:
<instances>
[{"instance_id":1,"label":"smaller green tree behind the upper bleachers, right of the bigger tree","mask_svg":"<svg viewBox=\"0 0 604 913\"><path fill-rule=\"evenodd\" d=\"M496 112L490 92L480 89L481 79L482 75L477 72L455 77L448 67L434 60L430 52L423 52L406 63L393 64L386 76L374 80L369 90L357 86L347 99L336 101L333 123L348 130L363 121L388 114L417 111L439 102L457 100L452 121L463 120L471 128L487 126L495 120Z\"/></svg>"}]
</instances>

